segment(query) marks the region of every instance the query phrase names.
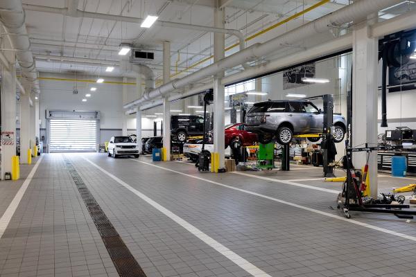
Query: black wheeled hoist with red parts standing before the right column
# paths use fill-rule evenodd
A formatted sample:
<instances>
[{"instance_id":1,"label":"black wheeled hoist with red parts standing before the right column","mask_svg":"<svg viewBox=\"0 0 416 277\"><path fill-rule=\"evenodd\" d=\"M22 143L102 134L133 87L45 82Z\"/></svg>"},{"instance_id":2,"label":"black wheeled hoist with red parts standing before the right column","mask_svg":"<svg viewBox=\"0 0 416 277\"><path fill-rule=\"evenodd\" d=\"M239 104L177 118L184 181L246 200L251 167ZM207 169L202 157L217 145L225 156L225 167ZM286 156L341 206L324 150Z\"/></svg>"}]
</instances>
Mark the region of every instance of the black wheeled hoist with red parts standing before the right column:
<instances>
[{"instance_id":1,"label":"black wheeled hoist with red parts standing before the right column","mask_svg":"<svg viewBox=\"0 0 416 277\"><path fill-rule=\"evenodd\" d=\"M337 208L343 209L344 215L350 218L349 211L360 211L367 213L391 213L399 218L413 218L416 215L416 210L406 211L403 209L410 208L405 204L389 204L385 201L372 201L370 203L364 203L362 198L362 189L358 186L358 177L354 166L352 165L352 153L354 152L372 152L379 150L395 150L402 148L403 146L378 146L378 147L366 147L365 148L347 148L344 158L344 168L347 170L347 179L343 185L343 192L338 195ZM384 199L386 197L383 195ZM395 200L394 196L392 199ZM381 202L381 204L379 204ZM388 203L388 204L385 204Z\"/></svg>"}]
</instances>

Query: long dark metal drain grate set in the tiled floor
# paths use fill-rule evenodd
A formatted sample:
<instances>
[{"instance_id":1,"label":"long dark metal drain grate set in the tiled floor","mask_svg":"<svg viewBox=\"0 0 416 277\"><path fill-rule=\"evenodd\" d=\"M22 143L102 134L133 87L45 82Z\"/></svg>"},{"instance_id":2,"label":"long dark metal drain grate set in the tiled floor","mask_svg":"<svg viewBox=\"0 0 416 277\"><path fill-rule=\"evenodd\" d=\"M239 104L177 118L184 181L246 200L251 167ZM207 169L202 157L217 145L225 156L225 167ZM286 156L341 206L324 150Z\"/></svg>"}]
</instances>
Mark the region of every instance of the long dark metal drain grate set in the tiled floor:
<instances>
[{"instance_id":1,"label":"long dark metal drain grate set in the tiled floor","mask_svg":"<svg viewBox=\"0 0 416 277\"><path fill-rule=\"evenodd\" d=\"M69 174L75 182L78 192L83 198L85 206L87 206L89 215L101 235L101 239L105 244L105 248L110 254L110 258L116 267L119 276L122 277L146 277L143 269L141 269L139 262L132 256L132 253L121 239L119 233L117 233L114 226L108 220L107 215L101 209L100 205L96 202L96 199L89 191L83 179L81 179L78 172L73 167L71 161L66 157L63 158L67 164Z\"/></svg>"}]
</instances>

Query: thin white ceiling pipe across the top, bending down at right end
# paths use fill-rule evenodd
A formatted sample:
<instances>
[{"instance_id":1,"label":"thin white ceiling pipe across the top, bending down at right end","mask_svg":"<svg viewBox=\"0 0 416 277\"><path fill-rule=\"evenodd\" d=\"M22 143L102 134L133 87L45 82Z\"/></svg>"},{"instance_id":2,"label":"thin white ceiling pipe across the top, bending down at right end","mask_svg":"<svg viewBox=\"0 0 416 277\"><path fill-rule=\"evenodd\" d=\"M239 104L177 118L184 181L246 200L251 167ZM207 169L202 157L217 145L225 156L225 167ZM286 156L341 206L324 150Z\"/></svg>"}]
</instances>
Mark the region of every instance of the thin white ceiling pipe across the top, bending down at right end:
<instances>
[{"instance_id":1,"label":"thin white ceiling pipe across the top, bending down at right end","mask_svg":"<svg viewBox=\"0 0 416 277\"><path fill-rule=\"evenodd\" d=\"M76 12L70 12L68 8L54 8L54 7L47 7L47 6L39 6L39 5L32 5L32 4L23 4L25 10L31 10L35 12L49 12L55 13L58 15L66 15L69 17L86 17L86 18L93 18L93 19L103 19L103 20L111 20L111 21L121 21L121 22L128 22L134 24L141 24L143 19L138 17L126 17L123 15L107 15L98 12L85 12L83 10L76 10ZM234 30L234 29L226 29L226 28L216 28L216 27L208 27L208 26L201 26L201 25L193 25L193 24L184 24L184 23L177 23L177 22L170 22L170 21L163 21L157 20L155 25L161 27L171 27L171 28L180 28L180 29L187 29L187 30L200 30L205 32L212 32L212 33L223 33L228 35L234 35L239 39L240 50L245 48L245 37L241 30Z\"/></svg>"}]
</instances>

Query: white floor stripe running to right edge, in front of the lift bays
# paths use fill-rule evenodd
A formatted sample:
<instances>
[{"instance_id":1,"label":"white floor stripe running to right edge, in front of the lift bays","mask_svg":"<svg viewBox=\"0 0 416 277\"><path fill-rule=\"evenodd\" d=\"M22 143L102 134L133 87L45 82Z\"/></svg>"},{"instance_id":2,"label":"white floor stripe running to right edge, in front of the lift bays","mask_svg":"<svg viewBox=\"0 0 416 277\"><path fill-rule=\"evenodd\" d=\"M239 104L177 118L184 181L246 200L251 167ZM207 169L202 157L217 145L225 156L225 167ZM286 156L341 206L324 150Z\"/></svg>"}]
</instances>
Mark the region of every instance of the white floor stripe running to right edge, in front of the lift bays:
<instances>
[{"instance_id":1,"label":"white floor stripe running to right edge, in front of the lift bays","mask_svg":"<svg viewBox=\"0 0 416 277\"><path fill-rule=\"evenodd\" d=\"M347 218L342 217L342 216L339 216L339 215L333 215L332 213L327 213L327 212L323 212L323 211L316 210L315 208L309 208L309 207L306 207L306 206L298 205L298 204L295 204L295 203L292 203L292 202L287 202L287 201L284 201L284 200L281 200L281 199L277 199L277 198L274 198L274 197L270 197L270 196L267 196L267 195L261 195L260 193L254 193L254 192L252 192L250 190L243 190L242 188L236 188L234 186L228 186L228 185L225 185L225 184L218 183L216 181L211 181L209 179L204 179L204 178L197 177L197 176L194 176L194 175L189 175L189 174L186 174L186 173L182 173L182 172L179 172L179 171L176 171L176 170L171 170L170 168L164 168L162 166L156 166L153 163L146 163L146 161L138 161L138 160L135 160L135 159L131 159L131 160L132 161L136 161L138 163L144 163L144 164L146 164L148 166L154 166L155 168L160 168L160 169L167 170L167 171L170 171L170 172L175 172L175 173L177 173L179 175L184 175L184 176L187 176L187 177L191 177L193 179L198 179L198 180L206 181L208 183L216 184L218 186L223 186L225 188L231 188L232 190L238 190L238 191L241 191L242 193L248 193L250 195L256 195L258 197L262 197L262 198L265 198L265 199L269 199L269 200L272 200L274 202L278 202L278 203L281 203L281 204L286 204L288 206L293 206L295 208L300 208L302 210L310 211L312 213L318 213L319 215L324 215L324 216L331 217L331 218L336 219L336 220L341 220L341 221L344 221L344 222L349 222L351 224L355 224L355 225L358 225L358 226L363 226L363 227L368 228L368 229L372 229L372 230L375 230L375 231L380 231L380 232L383 232L383 233L388 233L390 235L395 235L397 237L405 238L407 240L412 240L412 241L416 242L416 237L414 237L412 235L406 235L404 233L399 233L399 232L396 232L396 231L391 231L391 230L384 229L384 228L381 228L381 227L377 227L377 226L374 226L374 225L371 225L371 224L367 224L367 223L364 223L364 222L359 222L357 220L347 219Z\"/></svg>"}]
</instances>

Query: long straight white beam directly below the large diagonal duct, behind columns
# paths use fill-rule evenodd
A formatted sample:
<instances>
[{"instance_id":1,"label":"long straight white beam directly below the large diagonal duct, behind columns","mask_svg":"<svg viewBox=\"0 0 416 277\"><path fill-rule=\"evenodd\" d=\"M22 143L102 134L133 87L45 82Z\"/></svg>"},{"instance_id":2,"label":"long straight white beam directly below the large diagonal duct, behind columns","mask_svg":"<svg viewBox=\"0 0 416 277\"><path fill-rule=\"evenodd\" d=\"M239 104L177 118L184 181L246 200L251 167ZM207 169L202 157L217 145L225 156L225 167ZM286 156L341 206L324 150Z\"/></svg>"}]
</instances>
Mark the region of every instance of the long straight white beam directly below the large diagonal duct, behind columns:
<instances>
[{"instance_id":1,"label":"long straight white beam directly below the large diagonal duct, behind columns","mask_svg":"<svg viewBox=\"0 0 416 277\"><path fill-rule=\"evenodd\" d=\"M391 33L397 33L399 30L416 28L416 21L413 20L415 17L416 10L412 10L404 13L403 15L398 15L392 19L378 22L371 26L373 37L383 37L385 35L390 35ZM279 71L289 66L295 66L296 64L301 64L302 62L308 62L310 60L318 59L326 55L338 53L340 51L345 51L350 48L352 48L352 34L343 35L342 37L333 39L330 42L325 42L324 44L313 46L304 51L293 53L290 56L281 57L266 64L261 64L260 66L252 66L252 69L250 70L227 75L221 80L221 83L226 85L240 82L241 80L247 80L249 78L256 78L259 75ZM211 83L205 84L183 93L173 93L168 97L168 100L175 101L181 98L193 96L196 93L200 93L201 91L212 88L213 86ZM146 102L144 105L141 105L140 109L151 109L159 105L162 105L162 100L155 99Z\"/></svg>"}]
</instances>

